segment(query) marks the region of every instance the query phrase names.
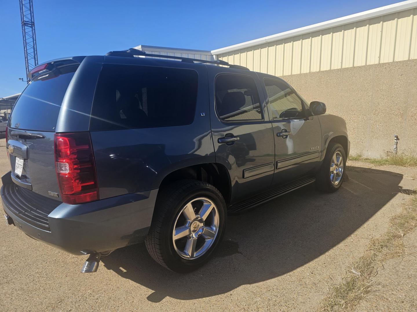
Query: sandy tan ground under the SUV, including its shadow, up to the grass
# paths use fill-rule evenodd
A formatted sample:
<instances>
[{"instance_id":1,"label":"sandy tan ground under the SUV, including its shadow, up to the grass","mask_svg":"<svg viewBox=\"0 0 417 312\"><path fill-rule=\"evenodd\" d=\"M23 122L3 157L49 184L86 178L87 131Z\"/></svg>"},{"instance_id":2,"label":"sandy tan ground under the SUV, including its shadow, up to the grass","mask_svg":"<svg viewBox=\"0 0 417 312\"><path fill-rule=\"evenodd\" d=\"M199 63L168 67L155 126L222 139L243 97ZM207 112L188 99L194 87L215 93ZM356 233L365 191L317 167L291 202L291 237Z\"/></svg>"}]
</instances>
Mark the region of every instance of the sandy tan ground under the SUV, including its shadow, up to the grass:
<instances>
[{"instance_id":1,"label":"sandy tan ground under the SUV, including its shadow, up to the grass","mask_svg":"<svg viewBox=\"0 0 417 312\"><path fill-rule=\"evenodd\" d=\"M2 175L10 167L4 145L1 139ZM350 165L349 181L337 193L306 186L229 217L214 258L185 275L160 267L143 244L116 250L102 258L98 272L81 274L87 256L2 223L0 310L314 310L327 282L339 280L369 239L384 233L417 186L415 171Z\"/></svg>"}]
</instances>

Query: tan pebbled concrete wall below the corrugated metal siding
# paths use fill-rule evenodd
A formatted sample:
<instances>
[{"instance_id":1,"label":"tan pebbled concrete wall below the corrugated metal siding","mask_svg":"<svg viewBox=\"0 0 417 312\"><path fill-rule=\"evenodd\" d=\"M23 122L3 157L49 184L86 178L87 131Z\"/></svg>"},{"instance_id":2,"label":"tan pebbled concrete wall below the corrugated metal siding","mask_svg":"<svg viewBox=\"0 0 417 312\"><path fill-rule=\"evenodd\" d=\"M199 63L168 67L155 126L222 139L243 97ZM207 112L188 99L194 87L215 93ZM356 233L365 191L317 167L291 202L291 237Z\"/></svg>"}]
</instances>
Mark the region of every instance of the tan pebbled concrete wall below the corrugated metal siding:
<instances>
[{"instance_id":1,"label":"tan pebbled concrete wall below the corrugated metal siding","mask_svg":"<svg viewBox=\"0 0 417 312\"><path fill-rule=\"evenodd\" d=\"M417 151L417 60L309 72L282 77L311 102L347 123L351 155Z\"/></svg>"}]
</instances>

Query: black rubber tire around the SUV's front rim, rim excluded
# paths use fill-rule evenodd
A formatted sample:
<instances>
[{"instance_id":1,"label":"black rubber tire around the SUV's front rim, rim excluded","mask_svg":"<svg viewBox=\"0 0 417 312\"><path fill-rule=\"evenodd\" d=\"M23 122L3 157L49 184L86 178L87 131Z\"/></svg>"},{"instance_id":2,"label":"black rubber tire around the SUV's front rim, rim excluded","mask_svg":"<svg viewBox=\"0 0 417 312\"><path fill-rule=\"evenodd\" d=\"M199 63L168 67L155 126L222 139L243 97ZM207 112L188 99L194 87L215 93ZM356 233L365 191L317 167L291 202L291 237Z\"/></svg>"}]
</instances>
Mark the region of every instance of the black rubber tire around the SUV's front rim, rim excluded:
<instances>
[{"instance_id":1,"label":"black rubber tire around the SUV's front rim, rim excluded","mask_svg":"<svg viewBox=\"0 0 417 312\"><path fill-rule=\"evenodd\" d=\"M332 157L337 151L339 151L340 154L342 154L344 168L343 168L342 177L339 183L337 183L337 185L334 185L330 181L330 165L332 163ZM319 172L317 173L316 186L319 190L327 192L327 193L336 192L342 186L345 175L346 175L346 153L343 149L343 146L339 143L329 143L329 145L327 146L326 156L324 156L322 166Z\"/></svg>"}]
</instances>

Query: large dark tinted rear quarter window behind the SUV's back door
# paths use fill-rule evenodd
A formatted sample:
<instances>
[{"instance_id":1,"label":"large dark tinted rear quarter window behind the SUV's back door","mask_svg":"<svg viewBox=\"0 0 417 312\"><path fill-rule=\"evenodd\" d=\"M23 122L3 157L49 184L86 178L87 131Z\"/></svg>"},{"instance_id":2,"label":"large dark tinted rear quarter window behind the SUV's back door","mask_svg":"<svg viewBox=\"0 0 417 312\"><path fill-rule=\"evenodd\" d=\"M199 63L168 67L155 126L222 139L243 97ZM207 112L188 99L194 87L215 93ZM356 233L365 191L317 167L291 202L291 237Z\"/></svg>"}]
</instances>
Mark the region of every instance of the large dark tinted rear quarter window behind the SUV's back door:
<instances>
[{"instance_id":1,"label":"large dark tinted rear quarter window behind the SUV's back door","mask_svg":"<svg viewBox=\"0 0 417 312\"><path fill-rule=\"evenodd\" d=\"M191 124L198 74L192 69L104 64L91 130Z\"/></svg>"}]
</instances>

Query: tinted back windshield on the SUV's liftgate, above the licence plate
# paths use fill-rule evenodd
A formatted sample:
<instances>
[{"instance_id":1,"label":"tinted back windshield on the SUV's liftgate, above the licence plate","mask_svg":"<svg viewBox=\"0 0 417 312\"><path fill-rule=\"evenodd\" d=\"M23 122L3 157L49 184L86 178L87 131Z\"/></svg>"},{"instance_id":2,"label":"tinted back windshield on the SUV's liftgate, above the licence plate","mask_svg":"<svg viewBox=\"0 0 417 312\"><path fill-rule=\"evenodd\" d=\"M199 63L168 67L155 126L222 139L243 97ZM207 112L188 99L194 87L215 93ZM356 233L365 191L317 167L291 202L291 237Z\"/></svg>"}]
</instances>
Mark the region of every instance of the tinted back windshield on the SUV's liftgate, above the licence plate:
<instances>
[{"instance_id":1,"label":"tinted back windshield on the SUV's liftgate, above the licence plate","mask_svg":"<svg viewBox=\"0 0 417 312\"><path fill-rule=\"evenodd\" d=\"M18 124L19 129L55 131L62 100L76 69L66 67L59 70L61 74L55 72L58 77L51 73L30 82L13 108L9 126Z\"/></svg>"}]
</instances>

